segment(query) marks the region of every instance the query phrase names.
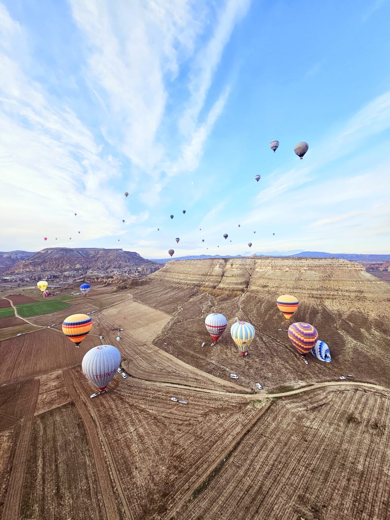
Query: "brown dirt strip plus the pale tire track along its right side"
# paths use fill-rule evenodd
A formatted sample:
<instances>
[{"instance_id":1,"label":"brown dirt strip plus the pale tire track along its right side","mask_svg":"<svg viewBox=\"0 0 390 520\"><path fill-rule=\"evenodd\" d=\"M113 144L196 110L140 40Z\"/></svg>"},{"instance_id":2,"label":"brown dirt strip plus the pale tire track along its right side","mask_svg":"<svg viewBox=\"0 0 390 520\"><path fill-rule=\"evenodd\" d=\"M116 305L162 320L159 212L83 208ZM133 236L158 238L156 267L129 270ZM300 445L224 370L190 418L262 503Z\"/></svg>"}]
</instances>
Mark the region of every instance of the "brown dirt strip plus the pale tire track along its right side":
<instances>
[{"instance_id":1,"label":"brown dirt strip plus the pale tire track along its right side","mask_svg":"<svg viewBox=\"0 0 390 520\"><path fill-rule=\"evenodd\" d=\"M110 447L108 445L107 439L105 437L105 434L102 430L101 424L99 422L99 419L95 413L95 410L92 406L88 406L89 403L85 403L85 396L77 383L76 379L74 378L72 372L67 369L63 371L63 376L65 380L65 384L68 388L68 392L70 393L77 410L79 410L80 416L85 424L85 427L87 428L88 436L90 439L90 444L92 447L92 451L94 454L95 459L95 465L97 470L97 475L99 478L100 483L100 490L103 497L103 502L105 504L106 513L107 513L107 519L111 520L111 518L119 518L120 512L118 511L118 505L116 504L114 491L112 488L112 482L111 477L107 468L107 462L105 458L103 457L102 453L102 446L101 443L103 443L103 447L106 451L108 463L110 465L110 470L112 477L115 481L116 490L118 491L119 497L122 502L122 506L126 515L126 519L132 520L133 514L131 509L129 508L127 498L125 495L125 492L122 488L121 479L118 475L118 471L116 471L115 467L115 461L112 456ZM100 441L100 439L101 441ZM101 477L103 477L101 479ZM115 515L114 515L115 513Z\"/></svg>"}]
</instances>

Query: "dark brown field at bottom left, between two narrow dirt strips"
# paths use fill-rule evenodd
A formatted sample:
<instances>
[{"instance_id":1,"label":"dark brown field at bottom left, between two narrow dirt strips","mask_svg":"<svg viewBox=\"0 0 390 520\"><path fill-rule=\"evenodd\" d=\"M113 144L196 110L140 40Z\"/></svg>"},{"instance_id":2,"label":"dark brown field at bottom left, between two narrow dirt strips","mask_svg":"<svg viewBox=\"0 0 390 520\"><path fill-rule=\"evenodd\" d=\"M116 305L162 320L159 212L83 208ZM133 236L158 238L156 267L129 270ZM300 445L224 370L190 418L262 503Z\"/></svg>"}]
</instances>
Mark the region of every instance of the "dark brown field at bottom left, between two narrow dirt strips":
<instances>
[{"instance_id":1,"label":"dark brown field at bottom left, between two narrow dirt strips","mask_svg":"<svg viewBox=\"0 0 390 520\"><path fill-rule=\"evenodd\" d=\"M19 518L107 518L88 435L73 403L34 419Z\"/></svg>"}]
</instances>

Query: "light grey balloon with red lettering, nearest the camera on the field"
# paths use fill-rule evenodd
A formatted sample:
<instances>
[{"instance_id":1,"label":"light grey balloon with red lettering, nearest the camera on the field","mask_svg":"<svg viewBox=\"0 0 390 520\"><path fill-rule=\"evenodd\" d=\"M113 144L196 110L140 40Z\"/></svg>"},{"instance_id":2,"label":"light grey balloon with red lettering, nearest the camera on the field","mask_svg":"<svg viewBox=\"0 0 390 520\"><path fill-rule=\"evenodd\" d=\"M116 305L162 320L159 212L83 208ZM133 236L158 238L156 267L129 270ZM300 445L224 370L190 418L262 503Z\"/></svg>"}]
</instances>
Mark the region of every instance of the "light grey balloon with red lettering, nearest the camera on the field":
<instances>
[{"instance_id":1,"label":"light grey balloon with red lettering, nearest the camera on the field","mask_svg":"<svg viewBox=\"0 0 390 520\"><path fill-rule=\"evenodd\" d=\"M91 348L83 357L81 369L91 383L105 390L121 365L121 353L113 345Z\"/></svg>"}]
</instances>

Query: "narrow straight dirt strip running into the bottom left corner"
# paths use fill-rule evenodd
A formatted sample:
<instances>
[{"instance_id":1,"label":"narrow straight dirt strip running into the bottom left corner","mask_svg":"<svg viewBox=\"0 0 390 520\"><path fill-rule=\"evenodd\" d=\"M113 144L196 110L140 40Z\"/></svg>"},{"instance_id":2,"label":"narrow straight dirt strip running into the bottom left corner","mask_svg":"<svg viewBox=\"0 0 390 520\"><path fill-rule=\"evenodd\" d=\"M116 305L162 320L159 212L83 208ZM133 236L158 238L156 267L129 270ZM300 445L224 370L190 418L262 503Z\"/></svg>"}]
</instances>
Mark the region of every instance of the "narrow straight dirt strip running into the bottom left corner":
<instances>
[{"instance_id":1,"label":"narrow straight dirt strip running into the bottom left corner","mask_svg":"<svg viewBox=\"0 0 390 520\"><path fill-rule=\"evenodd\" d=\"M38 392L40 389L40 380L34 378L31 383L31 391L29 393L29 401L26 413L22 419L18 444L15 451L15 457L12 461L12 469L8 482L7 495L4 501L3 518L4 520L18 520L20 502L22 499L23 482L25 475L25 466L30 448L30 439L34 421L34 412Z\"/></svg>"}]
</instances>

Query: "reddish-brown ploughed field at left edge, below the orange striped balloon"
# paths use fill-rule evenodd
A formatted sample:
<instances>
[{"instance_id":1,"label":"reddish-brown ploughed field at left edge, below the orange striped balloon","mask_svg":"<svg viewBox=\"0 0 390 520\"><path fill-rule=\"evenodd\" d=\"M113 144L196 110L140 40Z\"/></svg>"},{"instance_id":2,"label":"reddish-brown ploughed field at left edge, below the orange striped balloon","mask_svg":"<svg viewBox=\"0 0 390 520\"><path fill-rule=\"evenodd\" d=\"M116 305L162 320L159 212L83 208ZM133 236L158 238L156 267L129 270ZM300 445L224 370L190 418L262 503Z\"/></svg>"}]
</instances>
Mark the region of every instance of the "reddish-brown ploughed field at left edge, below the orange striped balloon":
<instances>
[{"instance_id":1,"label":"reddish-brown ploughed field at left edge, below the orange striped balloon","mask_svg":"<svg viewBox=\"0 0 390 520\"><path fill-rule=\"evenodd\" d=\"M0 343L0 384L45 374L81 363L90 348L100 344L88 335L79 348L62 332L42 329Z\"/></svg>"}]
</instances>

